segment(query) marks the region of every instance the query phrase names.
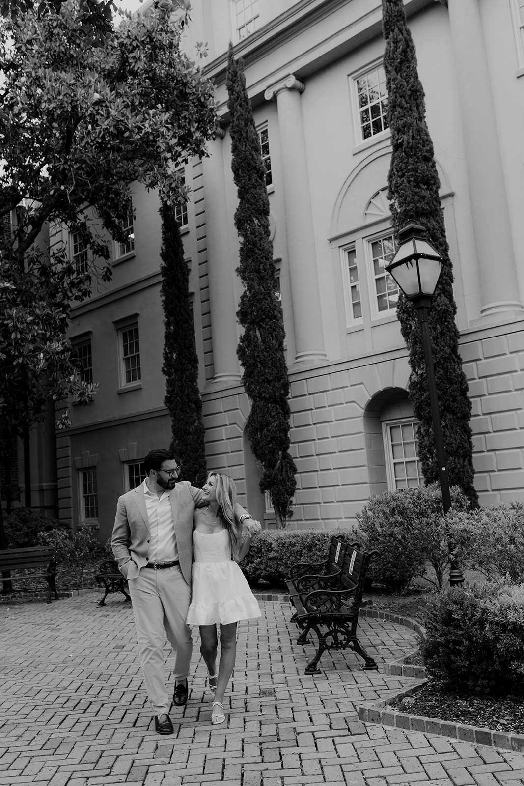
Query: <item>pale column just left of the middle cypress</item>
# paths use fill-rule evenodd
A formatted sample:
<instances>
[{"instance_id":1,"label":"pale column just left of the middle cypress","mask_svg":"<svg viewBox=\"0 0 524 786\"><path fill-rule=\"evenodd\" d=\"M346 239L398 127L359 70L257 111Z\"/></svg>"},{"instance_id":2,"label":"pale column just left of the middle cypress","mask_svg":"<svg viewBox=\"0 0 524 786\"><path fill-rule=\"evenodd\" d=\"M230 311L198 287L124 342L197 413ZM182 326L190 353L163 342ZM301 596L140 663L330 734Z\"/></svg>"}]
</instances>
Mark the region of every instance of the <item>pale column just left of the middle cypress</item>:
<instances>
[{"instance_id":1,"label":"pale column just left of the middle cypress","mask_svg":"<svg viewBox=\"0 0 524 786\"><path fill-rule=\"evenodd\" d=\"M220 387L240 384L240 365L236 357L236 300L233 285L235 265L229 242L233 218L225 199L224 156L219 129L210 142L210 157L202 160L206 195L207 274L213 342L213 383Z\"/></svg>"}]
</instances>

